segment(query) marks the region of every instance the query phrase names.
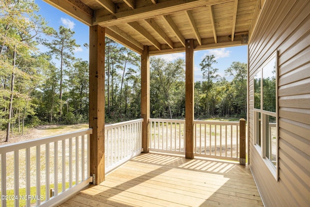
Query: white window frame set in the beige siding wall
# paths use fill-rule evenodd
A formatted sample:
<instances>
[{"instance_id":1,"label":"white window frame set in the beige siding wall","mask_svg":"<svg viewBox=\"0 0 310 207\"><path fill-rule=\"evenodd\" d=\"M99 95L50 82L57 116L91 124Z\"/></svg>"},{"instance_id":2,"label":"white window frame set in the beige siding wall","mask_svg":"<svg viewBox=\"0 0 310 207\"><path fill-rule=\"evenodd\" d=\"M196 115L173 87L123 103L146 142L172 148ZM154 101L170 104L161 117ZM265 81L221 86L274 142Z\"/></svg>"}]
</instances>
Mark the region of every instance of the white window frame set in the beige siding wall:
<instances>
[{"instance_id":1,"label":"white window frame set in the beige siding wall","mask_svg":"<svg viewBox=\"0 0 310 207\"><path fill-rule=\"evenodd\" d=\"M264 111L263 110L263 68L269 64L271 61L276 59L276 112L271 111ZM254 77L257 74L261 74L261 109L255 109L254 112L254 139L253 144L258 153L261 155L261 158L263 159L264 163L272 173L272 175L275 177L276 181L279 181L279 106L278 106L278 51L272 53L272 55L259 67L258 72L256 72L253 75L253 81ZM254 86L253 86L254 87ZM255 103L254 103L255 106ZM261 119L263 121L263 124L261 125L260 129L260 122L259 122L259 113L261 113ZM266 157L266 125L264 124L266 122L267 116L273 116L276 117L276 165L272 163L272 161ZM269 122L269 120L268 120ZM259 136L259 129L261 130L261 146L257 144L257 139ZM269 129L268 129L269 130ZM263 133L265 132L265 133ZM269 139L271 137L269 136ZM271 143L271 142L270 142ZM269 146L269 155L271 156L271 146Z\"/></svg>"}]
</instances>

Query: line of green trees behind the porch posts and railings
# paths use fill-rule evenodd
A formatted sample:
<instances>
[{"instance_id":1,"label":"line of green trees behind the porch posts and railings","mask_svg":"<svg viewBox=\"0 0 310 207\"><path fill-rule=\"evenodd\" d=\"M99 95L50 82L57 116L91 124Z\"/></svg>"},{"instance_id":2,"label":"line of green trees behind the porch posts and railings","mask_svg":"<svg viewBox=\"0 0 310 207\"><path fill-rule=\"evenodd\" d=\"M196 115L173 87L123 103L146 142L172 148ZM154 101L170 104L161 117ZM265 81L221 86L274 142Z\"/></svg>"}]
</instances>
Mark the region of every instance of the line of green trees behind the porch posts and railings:
<instances>
[{"instance_id":1,"label":"line of green trees behind the porch posts and railings","mask_svg":"<svg viewBox=\"0 0 310 207\"><path fill-rule=\"evenodd\" d=\"M6 141L25 127L88 122L89 63L75 58L74 31L48 27L38 10L34 1L0 4L0 128L7 130ZM106 123L140 118L140 56L105 40ZM41 45L48 51L41 52ZM226 69L232 81L219 77L214 64L214 56L200 64L204 80L195 82L195 118L244 117L247 64ZM150 110L155 118L185 117L183 59L151 57Z\"/></svg>"}]
</instances>

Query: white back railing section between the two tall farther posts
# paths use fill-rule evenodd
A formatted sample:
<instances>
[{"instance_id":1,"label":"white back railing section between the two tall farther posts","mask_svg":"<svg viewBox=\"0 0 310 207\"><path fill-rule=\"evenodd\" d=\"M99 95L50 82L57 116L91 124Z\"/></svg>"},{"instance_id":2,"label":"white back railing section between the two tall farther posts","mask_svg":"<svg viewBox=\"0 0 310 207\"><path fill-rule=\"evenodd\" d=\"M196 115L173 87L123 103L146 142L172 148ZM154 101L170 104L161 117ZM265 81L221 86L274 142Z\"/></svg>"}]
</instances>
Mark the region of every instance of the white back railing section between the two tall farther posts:
<instances>
[{"instance_id":1,"label":"white back railing section between the two tall farther posts","mask_svg":"<svg viewBox=\"0 0 310 207\"><path fill-rule=\"evenodd\" d=\"M149 119L151 151L185 154L185 120Z\"/></svg>"}]
</instances>

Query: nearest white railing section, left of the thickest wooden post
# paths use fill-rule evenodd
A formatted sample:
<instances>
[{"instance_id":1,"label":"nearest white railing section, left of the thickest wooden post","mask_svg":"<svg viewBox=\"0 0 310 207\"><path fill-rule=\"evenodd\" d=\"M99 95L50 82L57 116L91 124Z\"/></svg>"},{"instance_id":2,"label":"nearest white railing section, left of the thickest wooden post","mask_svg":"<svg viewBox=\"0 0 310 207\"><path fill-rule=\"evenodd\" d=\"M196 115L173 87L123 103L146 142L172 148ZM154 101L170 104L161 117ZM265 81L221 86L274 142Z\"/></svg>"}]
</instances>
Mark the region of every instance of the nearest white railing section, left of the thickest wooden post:
<instances>
[{"instance_id":1,"label":"nearest white railing section, left of the thickest wooden post","mask_svg":"<svg viewBox=\"0 0 310 207\"><path fill-rule=\"evenodd\" d=\"M92 131L0 146L1 207L52 206L92 182Z\"/></svg>"}]
</instances>

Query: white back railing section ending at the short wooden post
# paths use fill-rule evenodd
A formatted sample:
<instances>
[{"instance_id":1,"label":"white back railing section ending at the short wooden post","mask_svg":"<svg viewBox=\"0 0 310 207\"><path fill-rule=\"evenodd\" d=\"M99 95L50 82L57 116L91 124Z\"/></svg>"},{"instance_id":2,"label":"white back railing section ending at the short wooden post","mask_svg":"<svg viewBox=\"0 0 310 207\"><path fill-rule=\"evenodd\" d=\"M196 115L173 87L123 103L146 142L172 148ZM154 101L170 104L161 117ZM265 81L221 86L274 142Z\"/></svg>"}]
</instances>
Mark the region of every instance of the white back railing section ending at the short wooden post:
<instances>
[{"instance_id":1,"label":"white back railing section ending at the short wooden post","mask_svg":"<svg viewBox=\"0 0 310 207\"><path fill-rule=\"evenodd\" d=\"M239 122L194 121L196 156L239 160Z\"/></svg>"}]
</instances>

